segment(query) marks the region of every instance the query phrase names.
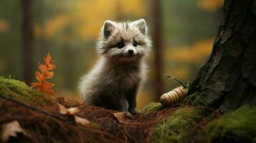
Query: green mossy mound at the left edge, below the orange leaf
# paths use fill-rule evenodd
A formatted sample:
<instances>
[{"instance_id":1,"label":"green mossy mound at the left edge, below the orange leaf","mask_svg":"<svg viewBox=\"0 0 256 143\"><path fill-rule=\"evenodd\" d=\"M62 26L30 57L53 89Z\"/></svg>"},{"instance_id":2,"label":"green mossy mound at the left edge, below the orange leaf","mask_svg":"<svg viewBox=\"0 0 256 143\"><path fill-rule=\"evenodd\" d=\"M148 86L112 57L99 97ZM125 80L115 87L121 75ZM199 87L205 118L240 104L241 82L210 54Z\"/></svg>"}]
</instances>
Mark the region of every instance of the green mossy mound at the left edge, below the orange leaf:
<instances>
[{"instance_id":1,"label":"green mossy mound at the left edge, below the orange leaf","mask_svg":"<svg viewBox=\"0 0 256 143\"><path fill-rule=\"evenodd\" d=\"M51 104L49 102L50 99L46 98L44 94L37 92L24 82L15 79L0 77L0 94L2 96L20 99L22 102L31 102L32 98L37 98L34 102L35 104Z\"/></svg>"}]
</instances>

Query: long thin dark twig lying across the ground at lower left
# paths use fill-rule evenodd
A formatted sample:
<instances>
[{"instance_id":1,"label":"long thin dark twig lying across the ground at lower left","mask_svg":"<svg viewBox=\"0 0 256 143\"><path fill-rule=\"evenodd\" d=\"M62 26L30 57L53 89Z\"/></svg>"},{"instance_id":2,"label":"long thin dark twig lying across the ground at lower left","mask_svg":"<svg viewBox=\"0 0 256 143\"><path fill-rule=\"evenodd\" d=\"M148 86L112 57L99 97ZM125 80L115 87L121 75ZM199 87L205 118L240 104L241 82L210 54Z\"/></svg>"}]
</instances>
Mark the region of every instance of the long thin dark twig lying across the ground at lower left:
<instances>
[{"instance_id":1,"label":"long thin dark twig lying across the ground at lower left","mask_svg":"<svg viewBox=\"0 0 256 143\"><path fill-rule=\"evenodd\" d=\"M46 114L46 115L48 115L48 116L50 116L50 117L54 117L54 118L60 119L60 120L62 120L62 121L68 121L68 120L70 120L70 119L68 119L68 117L63 116L62 114L59 114L59 115L58 115L58 114L52 114L52 113L50 113L50 112L46 112L46 111L44 111L44 110L42 110L42 109L38 109L38 108L32 107L32 106L30 106L30 105L28 105L28 104L24 104L24 103L22 103L22 102L19 102L18 100L13 99L13 98L11 98L11 97L8 97L8 96L6 96L6 95L0 94L0 98L1 98L1 99L5 99L5 100L8 100L8 101L11 101L11 102L15 102L16 104L19 104L19 105L22 105L22 106L24 106L24 107L27 107L28 109L32 109L32 110L34 110L34 111L36 111L36 112L40 112L40 113L42 113L42 114Z\"/></svg>"}]
</instances>

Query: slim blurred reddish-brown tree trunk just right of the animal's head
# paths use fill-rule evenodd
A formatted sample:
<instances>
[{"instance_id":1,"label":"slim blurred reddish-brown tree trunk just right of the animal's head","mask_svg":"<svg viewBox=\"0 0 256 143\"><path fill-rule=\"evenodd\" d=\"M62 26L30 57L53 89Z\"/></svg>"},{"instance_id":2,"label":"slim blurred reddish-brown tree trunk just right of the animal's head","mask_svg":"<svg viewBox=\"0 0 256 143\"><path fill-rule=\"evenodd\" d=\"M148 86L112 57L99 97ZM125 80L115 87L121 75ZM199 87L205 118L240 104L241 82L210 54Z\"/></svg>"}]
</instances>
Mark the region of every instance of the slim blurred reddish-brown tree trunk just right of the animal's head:
<instances>
[{"instance_id":1,"label":"slim blurred reddish-brown tree trunk just right of the animal's head","mask_svg":"<svg viewBox=\"0 0 256 143\"><path fill-rule=\"evenodd\" d=\"M162 37L161 37L161 1L153 0L153 49L154 51L154 68L155 68L155 86L156 87L156 101L163 94L163 73L162 73Z\"/></svg>"}]
</instances>

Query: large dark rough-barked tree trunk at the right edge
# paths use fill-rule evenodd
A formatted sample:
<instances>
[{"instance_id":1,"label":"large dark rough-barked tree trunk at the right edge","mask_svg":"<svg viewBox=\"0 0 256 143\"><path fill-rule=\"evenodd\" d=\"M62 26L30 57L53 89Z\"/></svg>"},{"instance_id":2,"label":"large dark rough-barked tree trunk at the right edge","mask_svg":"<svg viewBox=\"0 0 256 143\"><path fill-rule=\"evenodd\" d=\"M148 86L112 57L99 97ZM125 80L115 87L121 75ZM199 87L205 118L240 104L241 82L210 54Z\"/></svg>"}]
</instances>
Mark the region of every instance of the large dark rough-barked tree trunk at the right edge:
<instances>
[{"instance_id":1,"label":"large dark rough-barked tree trunk at the right edge","mask_svg":"<svg viewBox=\"0 0 256 143\"><path fill-rule=\"evenodd\" d=\"M189 94L222 112L256 105L256 0L225 0L212 54Z\"/></svg>"}]
</instances>

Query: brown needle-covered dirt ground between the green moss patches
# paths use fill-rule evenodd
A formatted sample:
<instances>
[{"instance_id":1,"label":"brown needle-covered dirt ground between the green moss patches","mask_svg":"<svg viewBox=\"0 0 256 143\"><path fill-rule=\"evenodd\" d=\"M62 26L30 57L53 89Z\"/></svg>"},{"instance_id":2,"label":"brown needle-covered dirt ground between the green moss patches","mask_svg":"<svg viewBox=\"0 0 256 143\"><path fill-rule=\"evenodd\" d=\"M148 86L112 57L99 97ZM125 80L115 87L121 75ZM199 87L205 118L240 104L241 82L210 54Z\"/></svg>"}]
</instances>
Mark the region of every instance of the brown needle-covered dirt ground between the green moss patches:
<instances>
[{"instance_id":1,"label":"brown needle-covered dirt ground between the green moss patches","mask_svg":"<svg viewBox=\"0 0 256 143\"><path fill-rule=\"evenodd\" d=\"M33 99L38 101L39 99ZM24 104L11 98L0 98L0 124L18 121L27 135L11 138L19 142L150 142L153 127L179 108L159 107L149 112L124 117L120 123L113 115L116 111L80 104L57 98L50 105ZM66 108L78 107L76 114L90 121L77 124L73 115L59 112L57 103ZM12 141L10 140L10 141Z\"/></svg>"}]
</instances>

